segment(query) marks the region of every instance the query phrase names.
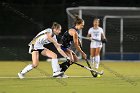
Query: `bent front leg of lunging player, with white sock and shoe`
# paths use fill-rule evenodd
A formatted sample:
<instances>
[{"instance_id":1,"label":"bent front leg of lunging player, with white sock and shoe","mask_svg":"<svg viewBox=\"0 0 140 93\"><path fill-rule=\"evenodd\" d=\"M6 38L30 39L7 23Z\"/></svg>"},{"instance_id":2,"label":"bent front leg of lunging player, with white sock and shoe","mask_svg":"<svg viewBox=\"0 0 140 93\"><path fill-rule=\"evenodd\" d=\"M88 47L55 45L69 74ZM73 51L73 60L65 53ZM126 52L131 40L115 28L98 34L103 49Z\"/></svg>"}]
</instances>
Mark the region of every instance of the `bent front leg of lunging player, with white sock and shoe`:
<instances>
[{"instance_id":1,"label":"bent front leg of lunging player, with white sock and shoe","mask_svg":"<svg viewBox=\"0 0 140 93\"><path fill-rule=\"evenodd\" d=\"M47 56L47 57L52 59L51 64L52 64L52 69L53 69L53 77L56 77L56 76L59 76L59 75L63 74L62 72L60 72L61 69L60 69L60 66L58 64L57 55L54 52L45 48L41 52L41 54L43 56Z\"/></svg>"}]
</instances>

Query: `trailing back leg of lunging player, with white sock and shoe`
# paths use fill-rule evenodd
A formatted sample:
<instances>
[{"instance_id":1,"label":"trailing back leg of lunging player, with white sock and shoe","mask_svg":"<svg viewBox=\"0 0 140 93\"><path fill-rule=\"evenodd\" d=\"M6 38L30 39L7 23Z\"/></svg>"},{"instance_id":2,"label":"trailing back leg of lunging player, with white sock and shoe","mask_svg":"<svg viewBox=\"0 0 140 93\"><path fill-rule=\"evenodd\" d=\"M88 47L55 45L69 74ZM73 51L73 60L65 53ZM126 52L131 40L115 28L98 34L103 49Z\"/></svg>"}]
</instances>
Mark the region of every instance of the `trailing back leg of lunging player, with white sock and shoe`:
<instances>
[{"instance_id":1,"label":"trailing back leg of lunging player, with white sock and shoe","mask_svg":"<svg viewBox=\"0 0 140 93\"><path fill-rule=\"evenodd\" d=\"M31 71L33 68L37 67L39 64L39 51L33 51L32 52L32 64L27 65L20 73L18 73L18 76L20 79L24 78L24 75Z\"/></svg>"}]
</instances>

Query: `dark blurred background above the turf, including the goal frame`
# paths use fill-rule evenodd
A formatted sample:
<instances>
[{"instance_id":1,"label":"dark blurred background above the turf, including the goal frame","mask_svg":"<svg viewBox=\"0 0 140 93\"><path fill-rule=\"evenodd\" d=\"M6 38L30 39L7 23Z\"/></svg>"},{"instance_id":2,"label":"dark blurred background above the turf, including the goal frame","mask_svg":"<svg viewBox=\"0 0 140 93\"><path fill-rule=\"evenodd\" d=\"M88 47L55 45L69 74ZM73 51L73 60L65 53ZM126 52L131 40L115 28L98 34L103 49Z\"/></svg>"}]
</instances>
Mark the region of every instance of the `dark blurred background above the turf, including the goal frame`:
<instances>
[{"instance_id":1,"label":"dark blurred background above the turf, including the goal frame","mask_svg":"<svg viewBox=\"0 0 140 93\"><path fill-rule=\"evenodd\" d=\"M83 36L92 26L94 17L101 19L108 39L102 59L140 60L139 7L139 0L1 0L0 60L31 60L28 43L32 38L51 27L54 21L62 25L62 35L72 26L70 14L78 14L85 20ZM90 42L82 41L89 57ZM50 47L54 49L52 44Z\"/></svg>"}]
</instances>

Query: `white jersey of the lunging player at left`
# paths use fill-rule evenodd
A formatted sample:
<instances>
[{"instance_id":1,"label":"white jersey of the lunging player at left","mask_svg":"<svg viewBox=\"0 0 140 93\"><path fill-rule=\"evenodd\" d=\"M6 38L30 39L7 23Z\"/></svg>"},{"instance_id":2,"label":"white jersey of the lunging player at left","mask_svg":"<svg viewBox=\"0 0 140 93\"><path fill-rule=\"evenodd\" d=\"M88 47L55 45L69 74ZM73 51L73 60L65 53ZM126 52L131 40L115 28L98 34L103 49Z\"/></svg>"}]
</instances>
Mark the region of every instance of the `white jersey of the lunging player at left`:
<instances>
[{"instance_id":1,"label":"white jersey of the lunging player at left","mask_svg":"<svg viewBox=\"0 0 140 93\"><path fill-rule=\"evenodd\" d=\"M52 29L48 28L45 29L43 31L41 31L40 33L38 33L33 40L29 43L29 53L31 53L31 50L38 50L38 49L44 49L44 45L45 44L49 44L51 43L47 38L47 34L46 33L50 33L53 34ZM56 39L56 35L53 35L53 38L57 41Z\"/></svg>"}]
</instances>

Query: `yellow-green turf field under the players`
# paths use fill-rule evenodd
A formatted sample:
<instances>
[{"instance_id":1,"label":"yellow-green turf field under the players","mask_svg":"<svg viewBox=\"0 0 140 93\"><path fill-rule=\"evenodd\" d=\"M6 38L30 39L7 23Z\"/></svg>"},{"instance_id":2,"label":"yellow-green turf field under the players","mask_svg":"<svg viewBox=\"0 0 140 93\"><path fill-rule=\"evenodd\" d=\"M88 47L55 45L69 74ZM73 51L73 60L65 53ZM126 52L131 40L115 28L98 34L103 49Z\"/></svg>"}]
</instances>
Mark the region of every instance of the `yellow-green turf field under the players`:
<instances>
[{"instance_id":1,"label":"yellow-green turf field under the players","mask_svg":"<svg viewBox=\"0 0 140 93\"><path fill-rule=\"evenodd\" d=\"M51 64L40 62L25 79L17 73L26 62L0 62L0 93L140 93L140 62L104 62L104 75L92 78L89 71L73 64L65 79L51 78ZM86 63L82 62L86 65Z\"/></svg>"}]
</instances>

